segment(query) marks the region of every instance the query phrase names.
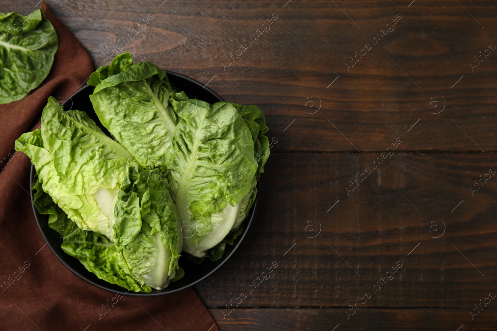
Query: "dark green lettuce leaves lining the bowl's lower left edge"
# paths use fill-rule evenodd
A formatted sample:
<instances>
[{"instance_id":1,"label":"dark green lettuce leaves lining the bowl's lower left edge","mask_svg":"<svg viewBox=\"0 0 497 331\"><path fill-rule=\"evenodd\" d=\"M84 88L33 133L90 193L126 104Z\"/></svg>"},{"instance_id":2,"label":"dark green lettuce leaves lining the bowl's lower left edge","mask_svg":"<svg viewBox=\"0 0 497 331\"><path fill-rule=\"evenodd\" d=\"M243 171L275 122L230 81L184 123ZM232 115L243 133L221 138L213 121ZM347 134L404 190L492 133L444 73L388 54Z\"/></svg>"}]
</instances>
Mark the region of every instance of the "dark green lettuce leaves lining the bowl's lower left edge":
<instances>
[{"instance_id":1,"label":"dark green lettuce leaves lining the bowl's lower left edge","mask_svg":"<svg viewBox=\"0 0 497 331\"><path fill-rule=\"evenodd\" d=\"M38 174L33 179L34 205L40 214L48 215L48 225L63 238L62 250L78 259L98 278L135 292L150 292L151 288L127 274L119 263L114 244L105 236L80 229L66 213L43 191Z\"/></svg>"}]
</instances>

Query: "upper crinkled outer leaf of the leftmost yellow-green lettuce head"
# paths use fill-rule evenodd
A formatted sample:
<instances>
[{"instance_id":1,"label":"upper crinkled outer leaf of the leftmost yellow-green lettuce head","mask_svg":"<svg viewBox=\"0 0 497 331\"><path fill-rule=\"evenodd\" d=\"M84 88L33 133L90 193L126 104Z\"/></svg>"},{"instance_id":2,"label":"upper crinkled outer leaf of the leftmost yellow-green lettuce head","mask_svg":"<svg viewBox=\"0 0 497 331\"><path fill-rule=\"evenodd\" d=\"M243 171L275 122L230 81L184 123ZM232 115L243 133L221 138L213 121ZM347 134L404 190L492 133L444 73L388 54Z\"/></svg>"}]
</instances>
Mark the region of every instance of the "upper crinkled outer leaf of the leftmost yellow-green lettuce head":
<instances>
[{"instance_id":1,"label":"upper crinkled outer leaf of the leftmost yellow-green lettuce head","mask_svg":"<svg viewBox=\"0 0 497 331\"><path fill-rule=\"evenodd\" d=\"M54 159L64 191L91 195L121 183L133 156L79 110L64 111L49 97L41 116L43 145Z\"/></svg>"}]
</instances>

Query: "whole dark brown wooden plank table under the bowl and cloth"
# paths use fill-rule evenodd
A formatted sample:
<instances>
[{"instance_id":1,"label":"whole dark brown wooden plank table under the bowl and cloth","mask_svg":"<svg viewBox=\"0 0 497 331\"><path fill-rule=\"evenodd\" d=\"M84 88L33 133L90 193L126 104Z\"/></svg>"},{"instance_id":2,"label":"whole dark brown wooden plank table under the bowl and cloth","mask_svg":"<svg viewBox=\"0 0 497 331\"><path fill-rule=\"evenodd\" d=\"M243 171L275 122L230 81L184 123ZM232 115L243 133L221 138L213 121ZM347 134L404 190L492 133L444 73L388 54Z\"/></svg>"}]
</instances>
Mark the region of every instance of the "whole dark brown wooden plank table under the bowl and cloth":
<instances>
[{"instance_id":1,"label":"whole dark brown wooden plank table under the bowl and cloth","mask_svg":"<svg viewBox=\"0 0 497 331\"><path fill-rule=\"evenodd\" d=\"M121 46L265 112L256 220L195 286L221 330L496 330L497 3L287 1L47 3L96 65Z\"/></svg>"}]
</instances>

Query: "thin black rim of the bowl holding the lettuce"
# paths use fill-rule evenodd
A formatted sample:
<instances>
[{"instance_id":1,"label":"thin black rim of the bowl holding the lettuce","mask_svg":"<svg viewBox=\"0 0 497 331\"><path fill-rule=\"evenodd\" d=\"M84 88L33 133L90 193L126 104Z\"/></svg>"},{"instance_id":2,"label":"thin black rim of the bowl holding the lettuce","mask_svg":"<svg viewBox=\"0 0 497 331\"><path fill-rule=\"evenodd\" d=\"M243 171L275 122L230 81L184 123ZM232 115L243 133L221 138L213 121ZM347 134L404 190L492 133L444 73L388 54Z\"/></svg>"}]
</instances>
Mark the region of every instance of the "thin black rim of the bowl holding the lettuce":
<instances>
[{"instance_id":1,"label":"thin black rim of the bowl holding the lettuce","mask_svg":"<svg viewBox=\"0 0 497 331\"><path fill-rule=\"evenodd\" d=\"M167 75L169 76L175 76L177 78L181 78L181 79L184 79L186 81L188 81L190 84L194 84L194 85L197 85L197 87L202 87L202 89L205 89L209 94L212 94L212 96L216 99L219 99L219 101L225 101L221 96L219 96L216 92L214 92L212 89L210 89L209 87L207 87L206 85L202 85L199 81L191 78L191 77L188 77L188 76L185 76L181 73L177 73L177 72L173 72L173 71L168 71L168 70L164 70L166 71ZM80 87L78 90L76 90L73 94L71 94L63 103L62 103L62 106L64 107L67 102L69 100L71 100L72 102L72 98L73 96L75 96L76 94L78 93L81 93L81 90L85 89L85 88L88 88L88 84ZM72 108L72 106L71 106ZM30 174L29 174L29 187L32 188L33 186L33 178L34 178L34 174L35 174L36 170L34 169L34 165L31 164L31 169L30 169ZM205 280L207 277L211 276L213 273L215 273L222 265L224 265L226 263L226 261L228 261L228 259L231 258L231 256L237 251L238 247L242 244L242 241L244 240L245 236L247 235L247 232L248 232L248 229L250 228L250 225L252 223L252 220L254 218L254 215L255 215L255 212L257 210L257 205L258 205L258 201L259 201L259 193L260 193L260 181L257 181L257 185L256 185L256 188L257 188L257 194L255 196L255 200L254 200L254 203L252 205L252 207L250 208L249 212L248 212L248 216L247 218L244 220L243 222L243 225L244 225L244 228L242 230L242 233L237 237L237 239L235 239L235 243L233 245L230 245L232 247L231 249L231 252L229 252L228 254L226 255L223 255L222 257L222 260L217 260L217 261L214 261L215 263L219 262L218 265L215 265L212 270L210 270L209 272L207 272L205 275L203 275L202 277L194 280L194 281L191 281L189 283L187 283L186 285L183 285L181 287L178 287L178 288L175 288L175 289L171 289L171 290L166 290L166 288L162 289L162 290L155 290L153 289L151 292L133 292L133 291L117 291L115 290L114 288L110 288L110 286L119 286L117 284L111 284L111 283L108 283L106 282L105 280L103 279L100 279L98 278L99 280L101 280L105 285L108 284L109 287L105 286L105 285L102 285L98 282L95 282L93 281L92 279L88 278L86 276L85 273L88 273L88 274L93 274L91 273L90 271L88 270L84 270L84 272L80 272L79 270L76 270L75 268L73 268L70 264L66 263L65 261L65 258L67 257L70 257L72 259L75 259L76 258L73 258L71 257L70 255L67 255L66 253L62 252L59 253L58 249L55 249L55 243L53 243L50 239L48 239L48 233L45 233L45 231L47 231L47 228L44 227L42 224L41 224L41 220L40 220L40 216L41 214L38 212L38 210L36 209L35 205L34 205L34 193L35 191L34 190L31 190L30 191L30 196L31 196L31 207L33 209L33 214L34 214L34 218L35 218L35 221L36 221L36 225L38 226L38 229L40 230L40 233L43 237L43 239L45 240L47 246L50 248L50 250L52 251L52 253L57 257L57 259L63 264L65 265L69 270L71 270L71 272L73 272L75 275L77 275L78 277L82 278L83 280L85 280L86 282L100 288L100 289L103 289L103 290L106 290L106 291L109 291L109 292L112 292L112 293L119 293L119 294L122 294L122 295L128 295L128 296L137 296L137 297L153 297L153 296L160 296L160 295L166 295L166 294L171 294L171 293L175 293L175 292L179 292L181 290L184 290L186 288L189 288L203 280ZM49 228L50 231L55 231L51 228ZM62 256L64 255L64 257ZM123 288L124 289L124 288ZM166 290L166 291L165 291Z\"/></svg>"}]
</instances>

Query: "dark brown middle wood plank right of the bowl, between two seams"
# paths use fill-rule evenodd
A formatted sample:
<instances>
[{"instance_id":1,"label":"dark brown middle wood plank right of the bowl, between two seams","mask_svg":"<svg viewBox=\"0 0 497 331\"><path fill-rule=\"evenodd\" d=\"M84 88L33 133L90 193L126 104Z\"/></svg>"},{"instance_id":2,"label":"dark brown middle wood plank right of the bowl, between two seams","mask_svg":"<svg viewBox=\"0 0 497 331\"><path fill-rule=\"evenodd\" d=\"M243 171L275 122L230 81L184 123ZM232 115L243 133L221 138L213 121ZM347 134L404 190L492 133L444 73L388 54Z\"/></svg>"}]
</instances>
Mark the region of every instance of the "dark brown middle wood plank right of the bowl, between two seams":
<instances>
[{"instance_id":1,"label":"dark brown middle wood plank right of the bowl, between two seams","mask_svg":"<svg viewBox=\"0 0 497 331\"><path fill-rule=\"evenodd\" d=\"M497 169L495 154L396 152L374 169L377 157L272 154L245 242L195 286L207 306L245 293L240 307L343 307L370 292L367 307L469 309L497 293L497 179L470 190ZM398 261L395 278L374 292ZM272 262L270 278L250 287Z\"/></svg>"}]
</instances>

